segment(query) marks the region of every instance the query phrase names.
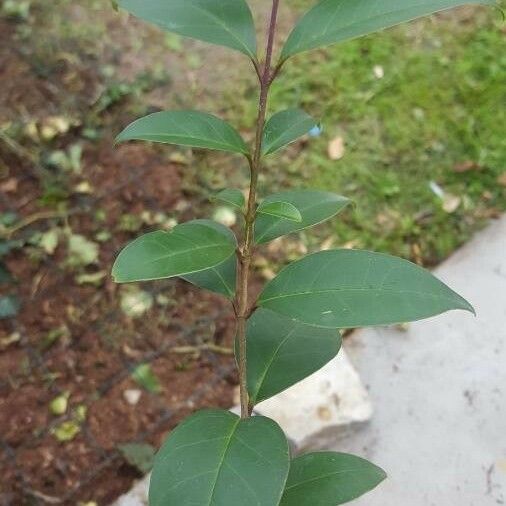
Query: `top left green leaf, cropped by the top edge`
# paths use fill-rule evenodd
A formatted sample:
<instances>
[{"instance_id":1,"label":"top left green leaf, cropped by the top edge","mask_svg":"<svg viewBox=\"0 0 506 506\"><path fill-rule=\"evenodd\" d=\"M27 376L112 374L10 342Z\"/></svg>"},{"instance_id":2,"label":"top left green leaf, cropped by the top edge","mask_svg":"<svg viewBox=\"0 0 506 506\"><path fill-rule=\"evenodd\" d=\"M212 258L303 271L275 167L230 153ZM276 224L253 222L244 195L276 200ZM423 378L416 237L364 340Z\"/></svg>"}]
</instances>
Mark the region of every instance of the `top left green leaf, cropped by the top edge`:
<instances>
[{"instance_id":1,"label":"top left green leaf, cropped by the top edge","mask_svg":"<svg viewBox=\"0 0 506 506\"><path fill-rule=\"evenodd\" d=\"M245 0L119 0L120 7L168 32L226 46L255 59L253 16Z\"/></svg>"}]
</instances>

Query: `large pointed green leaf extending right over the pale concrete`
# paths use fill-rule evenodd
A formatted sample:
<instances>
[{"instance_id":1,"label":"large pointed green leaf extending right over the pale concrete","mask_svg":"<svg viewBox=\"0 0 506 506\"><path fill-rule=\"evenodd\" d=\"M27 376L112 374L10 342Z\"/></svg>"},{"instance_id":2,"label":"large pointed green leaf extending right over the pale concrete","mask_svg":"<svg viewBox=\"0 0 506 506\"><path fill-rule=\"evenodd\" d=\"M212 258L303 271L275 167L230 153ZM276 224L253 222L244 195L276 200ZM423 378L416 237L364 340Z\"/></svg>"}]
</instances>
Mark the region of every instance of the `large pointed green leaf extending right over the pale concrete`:
<instances>
[{"instance_id":1,"label":"large pointed green leaf extending right over the pale concrete","mask_svg":"<svg viewBox=\"0 0 506 506\"><path fill-rule=\"evenodd\" d=\"M283 269L258 304L310 325L353 328L421 320L472 306L407 260L356 250L321 251Z\"/></svg>"}]
</instances>

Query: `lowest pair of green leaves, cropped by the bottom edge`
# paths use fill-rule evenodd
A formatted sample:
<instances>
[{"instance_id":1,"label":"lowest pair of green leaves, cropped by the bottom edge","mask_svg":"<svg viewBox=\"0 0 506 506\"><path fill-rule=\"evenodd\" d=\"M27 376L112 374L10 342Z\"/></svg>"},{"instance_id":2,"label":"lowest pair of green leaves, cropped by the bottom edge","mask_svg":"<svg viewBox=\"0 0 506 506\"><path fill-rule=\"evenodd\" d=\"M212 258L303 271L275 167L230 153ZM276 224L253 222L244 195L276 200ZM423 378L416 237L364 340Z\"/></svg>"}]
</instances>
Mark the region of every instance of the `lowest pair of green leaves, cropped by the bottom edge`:
<instances>
[{"instance_id":1,"label":"lowest pair of green leaves, cropped by the bottom edge","mask_svg":"<svg viewBox=\"0 0 506 506\"><path fill-rule=\"evenodd\" d=\"M352 455L313 453L290 462L286 437L273 420L209 410L187 418L158 452L149 504L335 506L384 478Z\"/></svg>"}]
</instances>

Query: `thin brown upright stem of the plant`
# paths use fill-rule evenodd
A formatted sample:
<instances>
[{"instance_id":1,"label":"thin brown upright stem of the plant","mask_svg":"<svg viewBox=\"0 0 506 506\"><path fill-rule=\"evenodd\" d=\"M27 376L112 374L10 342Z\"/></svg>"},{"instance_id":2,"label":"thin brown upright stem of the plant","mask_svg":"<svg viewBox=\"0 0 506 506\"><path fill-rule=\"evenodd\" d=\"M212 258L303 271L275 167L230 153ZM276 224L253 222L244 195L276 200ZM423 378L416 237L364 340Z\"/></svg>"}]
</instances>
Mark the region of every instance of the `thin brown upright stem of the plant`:
<instances>
[{"instance_id":1,"label":"thin brown upright stem of the plant","mask_svg":"<svg viewBox=\"0 0 506 506\"><path fill-rule=\"evenodd\" d=\"M253 156L249 158L250 164L250 187L247 210L244 223L243 242L238 249L239 279L237 282L237 340L239 344L239 387L241 394L241 417L247 418L251 415L253 406L249 404L247 388L247 366L246 366L246 323L251 313L248 302L248 284L251 269L251 257L253 254L253 236L255 215L257 207L257 185L258 174L261 168L262 159L262 137L264 134L265 114L267 111L267 98L272 84L272 51L274 48L274 36L276 34L276 22L280 0L272 1L272 10L267 34L267 47L265 50L265 62L263 69L254 62L260 83L260 97L258 101L258 116L256 121L255 148Z\"/></svg>"}]
</instances>

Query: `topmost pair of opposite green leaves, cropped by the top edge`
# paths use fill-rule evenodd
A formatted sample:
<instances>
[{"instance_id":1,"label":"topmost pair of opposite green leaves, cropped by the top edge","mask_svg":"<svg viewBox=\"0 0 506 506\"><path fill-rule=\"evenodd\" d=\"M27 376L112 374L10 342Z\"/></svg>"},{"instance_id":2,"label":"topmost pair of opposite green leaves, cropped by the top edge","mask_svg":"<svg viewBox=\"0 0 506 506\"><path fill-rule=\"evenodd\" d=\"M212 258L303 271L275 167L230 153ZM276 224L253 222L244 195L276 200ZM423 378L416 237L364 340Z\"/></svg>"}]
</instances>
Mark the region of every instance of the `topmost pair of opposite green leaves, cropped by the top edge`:
<instances>
[{"instance_id":1,"label":"topmost pair of opposite green leaves, cropped by the top edge","mask_svg":"<svg viewBox=\"0 0 506 506\"><path fill-rule=\"evenodd\" d=\"M497 5L495 0L322 0L297 23L283 47L281 61L473 3ZM118 4L169 32L226 46L253 60L257 58L253 16L245 0L119 0Z\"/></svg>"}]
</instances>

